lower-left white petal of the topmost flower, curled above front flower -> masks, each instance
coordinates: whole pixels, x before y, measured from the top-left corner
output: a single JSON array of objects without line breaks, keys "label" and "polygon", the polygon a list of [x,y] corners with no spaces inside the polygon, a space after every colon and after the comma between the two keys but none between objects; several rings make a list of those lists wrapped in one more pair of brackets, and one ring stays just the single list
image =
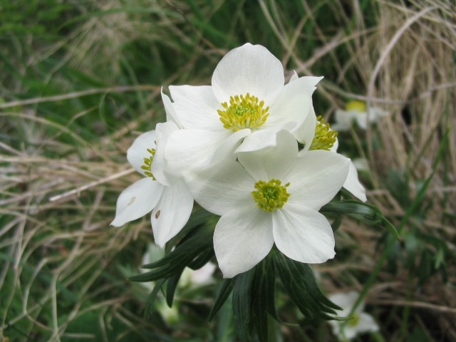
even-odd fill
[{"label": "lower-left white petal of the topmost flower, curled above front flower", "polygon": [[192,169],[207,165],[230,135],[232,133],[228,130],[176,130],[170,135],[165,146],[167,171],[177,177],[186,177]]}]

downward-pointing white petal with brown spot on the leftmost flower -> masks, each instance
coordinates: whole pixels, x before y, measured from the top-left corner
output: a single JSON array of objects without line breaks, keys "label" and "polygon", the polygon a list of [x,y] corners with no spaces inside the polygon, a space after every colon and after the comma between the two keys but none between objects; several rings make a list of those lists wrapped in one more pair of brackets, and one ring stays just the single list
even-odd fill
[{"label": "downward-pointing white petal with brown spot on the leftmost flower", "polygon": [[183,180],[165,187],[162,198],[152,210],[150,218],[155,243],[160,247],[180,232],[192,214],[193,197]]}]

